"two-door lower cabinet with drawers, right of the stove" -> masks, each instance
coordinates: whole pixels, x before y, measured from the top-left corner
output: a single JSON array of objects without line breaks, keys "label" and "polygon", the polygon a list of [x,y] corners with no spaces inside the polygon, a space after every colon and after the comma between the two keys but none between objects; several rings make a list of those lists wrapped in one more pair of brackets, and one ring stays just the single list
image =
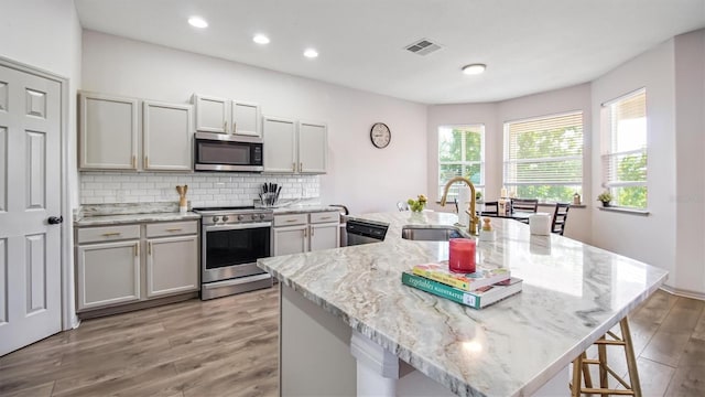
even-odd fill
[{"label": "two-door lower cabinet with drawers, right of the stove", "polygon": [[339,212],[274,215],[274,256],[340,246]]}]

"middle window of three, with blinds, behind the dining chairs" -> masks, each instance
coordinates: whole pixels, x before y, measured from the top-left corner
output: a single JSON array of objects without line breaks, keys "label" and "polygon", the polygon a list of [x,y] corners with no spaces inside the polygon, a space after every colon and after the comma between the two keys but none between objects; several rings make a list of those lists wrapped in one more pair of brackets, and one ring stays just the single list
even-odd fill
[{"label": "middle window of three, with blinds, behind the dining chairs", "polygon": [[583,194],[583,112],[506,122],[505,186],[543,202]]}]

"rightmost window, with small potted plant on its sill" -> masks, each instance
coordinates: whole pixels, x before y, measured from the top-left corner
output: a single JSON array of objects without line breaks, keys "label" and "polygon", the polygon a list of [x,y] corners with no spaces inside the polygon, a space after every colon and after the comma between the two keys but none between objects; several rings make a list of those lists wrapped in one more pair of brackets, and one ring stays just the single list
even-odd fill
[{"label": "rightmost window, with small potted plant on its sill", "polygon": [[647,90],[603,105],[603,187],[611,205],[647,207]]}]

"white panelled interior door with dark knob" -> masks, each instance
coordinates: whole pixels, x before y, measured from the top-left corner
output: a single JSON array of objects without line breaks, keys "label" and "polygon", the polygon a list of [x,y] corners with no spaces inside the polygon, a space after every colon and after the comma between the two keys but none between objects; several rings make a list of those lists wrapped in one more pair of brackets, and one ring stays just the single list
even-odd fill
[{"label": "white panelled interior door with dark knob", "polygon": [[0,355],[61,331],[59,153],[61,84],[0,65]]}]

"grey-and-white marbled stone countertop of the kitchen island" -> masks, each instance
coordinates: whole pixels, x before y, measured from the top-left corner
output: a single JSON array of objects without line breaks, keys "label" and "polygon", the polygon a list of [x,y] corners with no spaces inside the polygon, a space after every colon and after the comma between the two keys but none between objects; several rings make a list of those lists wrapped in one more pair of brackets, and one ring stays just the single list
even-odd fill
[{"label": "grey-and-white marbled stone countertop of the kitchen island", "polygon": [[402,270],[448,257],[447,243],[402,239],[402,226],[453,225],[455,214],[354,217],[389,224],[384,242],[258,264],[460,396],[531,395],[666,278],[640,261],[492,219],[497,240],[478,243],[479,261],[509,268],[523,290],[474,310],[401,283]]}]

